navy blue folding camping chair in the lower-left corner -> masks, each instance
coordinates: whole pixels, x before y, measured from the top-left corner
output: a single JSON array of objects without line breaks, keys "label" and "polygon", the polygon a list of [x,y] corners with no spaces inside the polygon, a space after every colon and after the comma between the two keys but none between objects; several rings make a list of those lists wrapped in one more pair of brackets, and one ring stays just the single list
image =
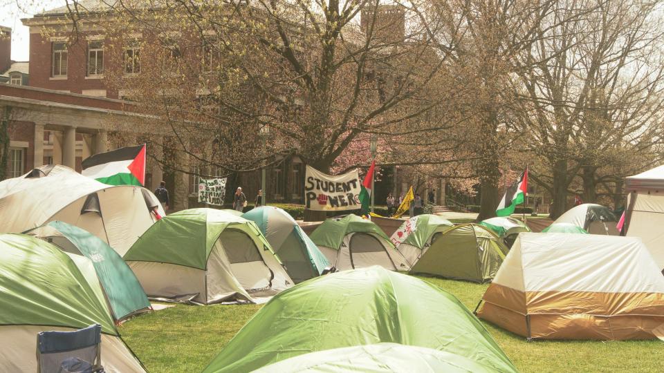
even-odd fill
[{"label": "navy blue folding camping chair in the lower-left corner", "polygon": [[104,372],[102,326],[90,325],[74,332],[37,334],[37,372]]}]

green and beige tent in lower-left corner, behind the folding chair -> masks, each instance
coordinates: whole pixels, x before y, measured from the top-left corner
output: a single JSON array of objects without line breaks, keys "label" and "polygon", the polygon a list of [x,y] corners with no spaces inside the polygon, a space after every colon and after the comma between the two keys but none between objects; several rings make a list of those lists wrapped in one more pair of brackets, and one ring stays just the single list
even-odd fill
[{"label": "green and beige tent in lower-left corner, behind the folding chair", "polygon": [[0,235],[0,367],[37,372],[37,333],[102,326],[107,372],[143,372],[113,323],[93,262],[33,236]]}]

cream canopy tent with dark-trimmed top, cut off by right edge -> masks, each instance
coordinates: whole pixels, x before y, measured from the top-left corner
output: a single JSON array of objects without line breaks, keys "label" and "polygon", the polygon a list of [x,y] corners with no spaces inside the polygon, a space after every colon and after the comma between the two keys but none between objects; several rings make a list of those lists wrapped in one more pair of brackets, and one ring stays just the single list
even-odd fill
[{"label": "cream canopy tent with dark-trimmed top, cut off by right edge", "polygon": [[639,237],[664,269],[664,166],[625,178],[625,236]]}]

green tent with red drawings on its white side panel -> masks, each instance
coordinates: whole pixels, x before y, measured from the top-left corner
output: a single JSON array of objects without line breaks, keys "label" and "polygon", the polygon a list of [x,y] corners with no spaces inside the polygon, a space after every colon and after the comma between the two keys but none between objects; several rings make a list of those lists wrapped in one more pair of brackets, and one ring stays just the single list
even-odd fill
[{"label": "green tent with red drawings on its white side panel", "polygon": [[417,261],[422,251],[431,245],[435,233],[444,232],[454,227],[450,220],[432,214],[414,216],[405,220],[401,226],[392,233],[390,240],[396,249],[406,258],[409,267]]}]

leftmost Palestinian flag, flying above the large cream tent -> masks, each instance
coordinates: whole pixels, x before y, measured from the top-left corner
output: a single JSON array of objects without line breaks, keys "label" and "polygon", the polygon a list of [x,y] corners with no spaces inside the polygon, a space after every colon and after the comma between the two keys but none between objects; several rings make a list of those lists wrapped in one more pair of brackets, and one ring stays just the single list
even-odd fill
[{"label": "leftmost Palestinian flag, flying above the large cream tent", "polygon": [[145,184],[145,144],[95,154],[82,162],[82,174],[109,185]]}]

